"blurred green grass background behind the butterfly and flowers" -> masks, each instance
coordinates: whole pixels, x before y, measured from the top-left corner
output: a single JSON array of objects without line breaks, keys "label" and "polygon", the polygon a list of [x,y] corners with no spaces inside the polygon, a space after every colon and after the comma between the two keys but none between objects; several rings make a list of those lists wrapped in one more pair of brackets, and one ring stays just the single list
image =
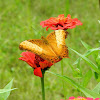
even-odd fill
[{"label": "blurred green grass background behind the butterfly and flowers", "polygon": [[[100,40],[100,9],[98,0],[70,0],[69,12],[72,18],[78,18],[83,25],[68,29],[69,36],[66,45],[80,53],[85,49],[80,39],[92,47],[99,47]],[[40,22],[50,17],[65,14],[66,0],[0,0],[0,88],[3,88],[12,78],[13,87],[8,100],[41,100],[40,78],[33,75],[33,70],[25,62],[18,60],[22,51],[20,42],[28,39],[47,36],[52,30],[46,31]],[[69,66],[77,59],[77,55],[69,51],[69,59],[64,59],[64,75],[75,80]],[[73,66],[75,67],[75,66]],[[84,72],[88,65],[81,64]],[[87,69],[86,69],[87,68]],[[60,62],[50,68],[50,71],[61,73]],[[81,79],[79,79],[81,81]],[[91,80],[88,88],[93,88],[96,82]],[[66,96],[79,96],[69,84],[65,83]],[[63,99],[62,81],[50,73],[45,75],[46,100]]]}]

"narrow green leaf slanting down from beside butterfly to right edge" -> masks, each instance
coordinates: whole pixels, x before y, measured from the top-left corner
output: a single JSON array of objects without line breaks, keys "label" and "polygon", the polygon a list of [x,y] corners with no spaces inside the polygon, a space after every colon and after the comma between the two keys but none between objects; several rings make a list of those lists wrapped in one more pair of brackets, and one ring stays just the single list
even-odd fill
[{"label": "narrow green leaf slanting down from beside butterfly to right edge", "polygon": [[84,55],[78,53],[77,51],[75,51],[73,49],[71,49],[71,50],[74,51],[77,55],[79,55],[93,70],[95,70],[97,73],[100,73],[100,71],[98,70],[98,66],[96,66],[91,60],[89,60]]}]

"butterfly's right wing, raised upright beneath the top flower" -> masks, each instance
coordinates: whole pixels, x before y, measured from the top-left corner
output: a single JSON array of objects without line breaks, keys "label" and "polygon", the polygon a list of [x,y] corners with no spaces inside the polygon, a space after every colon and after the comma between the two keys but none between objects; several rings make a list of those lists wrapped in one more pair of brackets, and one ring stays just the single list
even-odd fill
[{"label": "butterfly's right wing, raised upright beneath the top flower", "polygon": [[56,30],[46,37],[48,43],[51,45],[54,52],[59,56],[59,58],[68,58],[68,48],[65,44],[67,34],[67,31]]}]

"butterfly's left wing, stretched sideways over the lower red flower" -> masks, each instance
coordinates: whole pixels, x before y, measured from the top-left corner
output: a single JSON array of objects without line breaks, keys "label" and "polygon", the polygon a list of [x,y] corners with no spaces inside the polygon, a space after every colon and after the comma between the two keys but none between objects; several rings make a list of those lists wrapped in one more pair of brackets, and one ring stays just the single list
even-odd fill
[{"label": "butterfly's left wing, stretched sideways over the lower red flower", "polygon": [[40,39],[31,39],[26,40],[20,43],[19,48],[21,50],[31,51],[41,58],[48,60],[52,63],[55,63],[54,59],[59,59],[55,52],[50,48],[49,44],[44,40]]}]

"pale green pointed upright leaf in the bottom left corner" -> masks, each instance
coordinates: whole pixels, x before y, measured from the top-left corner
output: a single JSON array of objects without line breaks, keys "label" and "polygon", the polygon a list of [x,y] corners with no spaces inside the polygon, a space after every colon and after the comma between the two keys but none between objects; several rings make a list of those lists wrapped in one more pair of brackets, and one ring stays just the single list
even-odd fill
[{"label": "pale green pointed upright leaf in the bottom left corner", "polygon": [[[13,80],[11,80],[11,81],[4,87],[4,89],[11,90],[12,83],[13,83]],[[8,98],[9,95],[10,95],[10,91],[1,93],[1,94],[0,94],[0,100],[7,100],[7,98]]]}]

